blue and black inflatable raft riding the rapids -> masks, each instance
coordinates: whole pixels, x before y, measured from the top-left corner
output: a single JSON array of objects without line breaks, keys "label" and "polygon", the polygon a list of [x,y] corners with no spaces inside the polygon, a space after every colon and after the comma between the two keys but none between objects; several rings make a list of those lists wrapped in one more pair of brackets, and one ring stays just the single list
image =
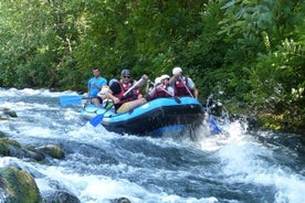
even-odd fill
[{"label": "blue and black inflatable raft riding the rapids", "polygon": [[101,124],[108,131],[138,136],[194,129],[204,118],[202,105],[192,97],[156,98],[123,114],[116,114],[114,109],[105,111],[103,107],[88,104],[82,115],[93,118],[105,114]]}]

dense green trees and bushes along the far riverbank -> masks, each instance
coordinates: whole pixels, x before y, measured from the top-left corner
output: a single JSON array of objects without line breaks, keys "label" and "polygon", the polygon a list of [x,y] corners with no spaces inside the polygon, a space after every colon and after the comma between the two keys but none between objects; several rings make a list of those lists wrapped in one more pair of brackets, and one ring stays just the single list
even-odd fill
[{"label": "dense green trees and bushes along the far riverbank", "polygon": [[302,0],[1,0],[0,86],[85,90],[92,67],[181,66],[232,113],[305,129]]}]

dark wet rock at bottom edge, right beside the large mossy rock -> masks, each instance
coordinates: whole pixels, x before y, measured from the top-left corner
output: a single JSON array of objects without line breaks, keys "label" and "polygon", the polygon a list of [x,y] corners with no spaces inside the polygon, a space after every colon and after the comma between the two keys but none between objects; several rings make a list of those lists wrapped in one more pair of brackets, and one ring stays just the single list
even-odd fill
[{"label": "dark wet rock at bottom edge, right beside the large mossy rock", "polygon": [[55,191],[54,193],[49,193],[43,196],[43,203],[80,203],[81,201],[64,191]]}]

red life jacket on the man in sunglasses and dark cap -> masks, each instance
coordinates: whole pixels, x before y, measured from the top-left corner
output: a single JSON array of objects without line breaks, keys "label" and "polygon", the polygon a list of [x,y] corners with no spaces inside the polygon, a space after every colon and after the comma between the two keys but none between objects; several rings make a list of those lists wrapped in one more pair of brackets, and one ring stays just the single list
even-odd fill
[{"label": "red life jacket on the man in sunglasses and dark cap", "polygon": [[118,104],[124,104],[124,103],[127,103],[127,101],[130,101],[130,100],[135,100],[139,97],[140,95],[140,92],[139,89],[133,89],[130,90],[127,95],[124,96],[124,93],[126,93],[132,86],[133,84],[132,83],[122,83],[122,82],[117,82],[120,86],[120,93],[114,95],[115,97],[117,98],[120,98],[120,101]]}]

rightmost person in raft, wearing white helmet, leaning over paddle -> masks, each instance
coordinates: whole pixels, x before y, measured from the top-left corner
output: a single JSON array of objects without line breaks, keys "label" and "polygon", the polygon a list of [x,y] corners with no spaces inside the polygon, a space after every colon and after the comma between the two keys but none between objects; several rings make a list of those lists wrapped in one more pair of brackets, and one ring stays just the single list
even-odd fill
[{"label": "rightmost person in raft, wearing white helmet, leaning over paddle", "polygon": [[190,77],[182,75],[181,67],[172,68],[172,77],[169,79],[169,85],[173,85],[175,96],[194,97],[198,99],[198,89]]}]

